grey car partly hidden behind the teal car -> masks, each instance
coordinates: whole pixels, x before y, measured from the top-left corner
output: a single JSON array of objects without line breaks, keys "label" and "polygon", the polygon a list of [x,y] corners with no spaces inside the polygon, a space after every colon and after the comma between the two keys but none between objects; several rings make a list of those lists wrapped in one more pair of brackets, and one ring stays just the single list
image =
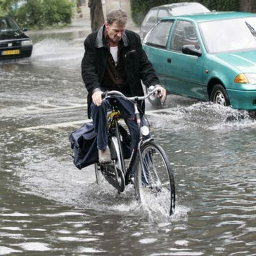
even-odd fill
[{"label": "grey car partly hidden behind the teal car", "polygon": [[143,39],[150,28],[164,17],[186,15],[191,13],[211,12],[203,4],[196,2],[182,2],[159,5],[151,8],[140,26],[140,36]]}]

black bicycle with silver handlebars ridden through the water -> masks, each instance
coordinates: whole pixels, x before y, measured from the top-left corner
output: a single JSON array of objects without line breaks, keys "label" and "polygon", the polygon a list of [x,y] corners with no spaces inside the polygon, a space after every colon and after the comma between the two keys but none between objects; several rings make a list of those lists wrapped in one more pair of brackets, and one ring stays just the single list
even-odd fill
[{"label": "black bicycle with silver handlebars ridden through the water", "polygon": [[[95,164],[96,181],[99,184],[100,171],[119,193],[124,191],[126,185],[133,184],[139,202],[143,205],[152,202],[160,204],[172,215],[175,208],[175,186],[172,168],[164,149],[153,138],[147,138],[149,128],[141,125],[137,106],[139,100],[145,100],[155,92],[159,93],[154,86],[151,86],[148,91],[147,95],[141,97],[126,97],[118,91],[105,93],[104,99],[114,100],[116,97],[122,97],[132,102],[134,117],[140,132],[136,147],[132,150],[129,163],[126,165],[118,122],[122,116],[115,104],[112,104],[111,113],[108,115],[108,139],[112,162],[110,164]],[[132,173],[133,168],[135,173]]]}]

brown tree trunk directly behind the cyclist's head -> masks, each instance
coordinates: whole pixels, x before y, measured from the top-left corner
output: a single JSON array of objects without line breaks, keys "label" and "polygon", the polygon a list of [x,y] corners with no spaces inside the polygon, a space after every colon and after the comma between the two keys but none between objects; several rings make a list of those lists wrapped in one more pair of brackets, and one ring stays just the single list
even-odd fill
[{"label": "brown tree trunk directly behind the cyclist's head", "polygon": [[89,0],[92,32],[97,31],[104,24],[104,15],[101,0]]}]

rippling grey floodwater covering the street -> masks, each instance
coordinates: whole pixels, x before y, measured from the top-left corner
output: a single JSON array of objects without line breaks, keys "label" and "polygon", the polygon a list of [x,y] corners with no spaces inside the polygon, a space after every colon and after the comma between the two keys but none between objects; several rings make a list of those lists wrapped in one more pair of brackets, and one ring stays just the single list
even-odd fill
[{"label": "rippling grey floodwater covering the street", "polygon": [[87,119],[86,33],[31,36],[31,58],[0,62],[0,255],[256,255],[255,121],[180,96],[147,102],[177,193],[175,214],[156,214],[69,156]]}]

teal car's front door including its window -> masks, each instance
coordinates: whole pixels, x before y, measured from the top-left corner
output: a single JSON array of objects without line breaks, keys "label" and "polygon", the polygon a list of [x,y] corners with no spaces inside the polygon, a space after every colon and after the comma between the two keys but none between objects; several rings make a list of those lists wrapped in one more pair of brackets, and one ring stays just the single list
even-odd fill
[{"label": "teal car's front door including its window", "polygon": [[169,50],[165,56],[166,89],[170,92],[205,100],[202,72],[205,53],[200,57],[182,53],[184,45],[200,49],[200,42],[193,22],[177,20],[172,29]]}]

